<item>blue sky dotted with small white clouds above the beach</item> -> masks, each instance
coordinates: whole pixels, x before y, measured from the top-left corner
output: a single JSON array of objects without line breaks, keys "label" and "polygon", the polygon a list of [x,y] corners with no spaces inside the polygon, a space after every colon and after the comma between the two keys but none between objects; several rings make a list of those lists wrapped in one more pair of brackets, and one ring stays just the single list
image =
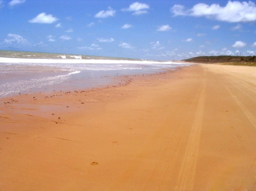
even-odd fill
[{"label": "blue sky dotted with small white clouds above the beach", "polygon": [[0,0],[0,49],[153,60],[256,54],[256,5],[219,0]]}]

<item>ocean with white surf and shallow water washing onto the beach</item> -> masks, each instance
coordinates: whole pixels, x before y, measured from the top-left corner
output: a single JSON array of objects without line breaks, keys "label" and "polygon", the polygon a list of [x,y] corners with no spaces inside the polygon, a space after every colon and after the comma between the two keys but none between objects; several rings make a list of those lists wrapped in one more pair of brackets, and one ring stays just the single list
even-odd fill
[{"label": "ocean with white surf and shallow water washing onto the beach", "polygon": [[113,77],[162,72],[187,63],[0,50],[0,98],[17,93],[86,89]]}]

